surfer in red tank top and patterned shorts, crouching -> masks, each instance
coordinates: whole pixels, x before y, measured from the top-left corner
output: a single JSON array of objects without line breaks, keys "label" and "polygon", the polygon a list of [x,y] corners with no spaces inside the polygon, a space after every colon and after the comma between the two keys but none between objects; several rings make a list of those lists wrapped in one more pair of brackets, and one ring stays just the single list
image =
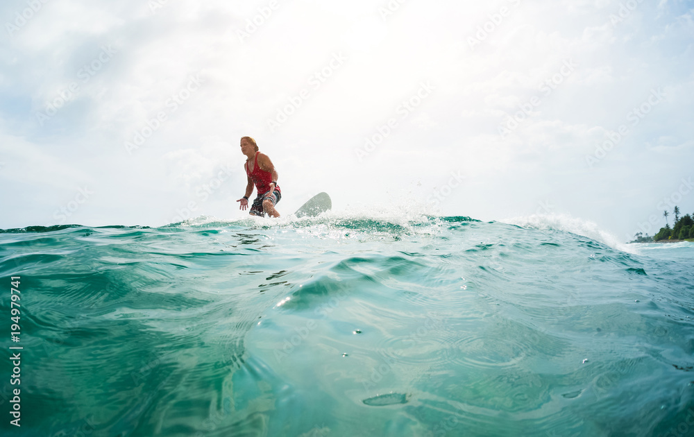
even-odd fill
[{"label": "surfer in red tank top and patterned shorts, crouching", "polygon": [[264,216],[268,214],[271,217],[279,217],[280,213],[275,209],[275,205],[282,198],[282,192],[277,185],[277,170],[273,166],[270,158],[264,153],[258,151],[258,146],[255,139],[251,137],[243,137],[241,139],[241,153],[246,155],[246,175],[248,176],[248,185],[246,185],[246,194],[243,198],[237,200],[241,202],[239,209],[244,211],[248,208],[248,198],[253,194],[253,185],[257,189],[258,195],[253,200],[250,214],[252,216]]}]

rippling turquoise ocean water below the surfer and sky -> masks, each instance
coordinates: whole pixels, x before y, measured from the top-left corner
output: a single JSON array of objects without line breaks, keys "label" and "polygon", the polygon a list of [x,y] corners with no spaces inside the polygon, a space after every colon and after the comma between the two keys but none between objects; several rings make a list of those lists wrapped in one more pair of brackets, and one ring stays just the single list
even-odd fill
[{"label": "rippling turquoise ocean water below the surfer and sky", "polygon": [[613,246],[466,217],[6,230],[0,434],[693,436],[694,244]]}]

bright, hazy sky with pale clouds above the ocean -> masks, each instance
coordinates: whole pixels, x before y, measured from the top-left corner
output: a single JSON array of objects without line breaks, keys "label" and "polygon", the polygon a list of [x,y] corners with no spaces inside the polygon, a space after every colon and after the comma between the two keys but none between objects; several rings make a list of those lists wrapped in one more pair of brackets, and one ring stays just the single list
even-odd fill
[{"label": "bright, hazy sky with pale clouds above the ocean", "polygon": [[[0,228],[282,214],[694,213],[694,1],[7,0]],[[255,194],[253,194],[255,196]]]}]

